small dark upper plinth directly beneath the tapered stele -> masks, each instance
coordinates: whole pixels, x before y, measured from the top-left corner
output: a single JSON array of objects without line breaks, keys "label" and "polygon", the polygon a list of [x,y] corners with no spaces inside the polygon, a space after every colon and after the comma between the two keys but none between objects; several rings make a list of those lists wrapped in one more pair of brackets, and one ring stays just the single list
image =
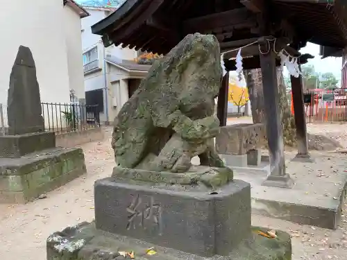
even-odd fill
[{"label": "small dark upper plinth directly beneath the tapered stele", "polygon": [[0,137],[0,158],[19,158],[29,153],[56,147],[53,132],[37,132]]}]

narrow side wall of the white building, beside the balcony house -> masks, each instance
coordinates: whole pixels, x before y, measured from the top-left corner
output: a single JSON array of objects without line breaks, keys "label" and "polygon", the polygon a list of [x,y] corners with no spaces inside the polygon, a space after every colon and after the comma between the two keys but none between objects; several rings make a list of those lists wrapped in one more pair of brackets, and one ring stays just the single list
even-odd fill
[{"label": "narrow side wall of the white building, beside the balcony house", "polygon": [[[67,69],[69,71],[69,86],[74,89],[78,99],[85,99],[81,17],[69,6],[65,6],[65,40],[67,46]],[[83,19],[82,19],[83,21]]]}]

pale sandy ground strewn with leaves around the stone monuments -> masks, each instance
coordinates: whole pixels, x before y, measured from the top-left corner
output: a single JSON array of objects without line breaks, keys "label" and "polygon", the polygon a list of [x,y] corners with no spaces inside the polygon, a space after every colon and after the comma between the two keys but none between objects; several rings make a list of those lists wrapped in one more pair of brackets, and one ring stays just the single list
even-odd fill
[{"label": "pale sandy ground strewn with leaves around the stone monuments", "polygon": [[[347,144],[346,125],[309,125],[310,132],[322,130]],[[339,130],[338,130],[339,129]],[[94,181],[109,176],[114,166],[110,129],[106,138],[82,146],[87,174],[27,205],[0,205],[0,259],[44,260],[46,237],[68,225],[94,218]],[[347,207],[344,212],[347,216]],[[282,229],[292,234],[294,260],[346,259],[347,218],[336,231],[298,225],[284,220],[252,216],[253,225]]]}]

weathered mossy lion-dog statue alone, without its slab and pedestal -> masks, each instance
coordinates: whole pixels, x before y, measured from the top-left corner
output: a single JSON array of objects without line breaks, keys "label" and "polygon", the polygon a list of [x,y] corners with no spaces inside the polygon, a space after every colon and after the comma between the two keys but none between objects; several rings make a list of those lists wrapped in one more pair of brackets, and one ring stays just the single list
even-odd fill
[{"label": "weathered mossy lion-dog statue alone, without its slab and pedestal", "polygon": [[183,173],[198,155],[201,165],[222,167],[213,143],[219,133],[214,98],[221,73],[213,35],[187,35],[156,60],[115,118],[112,148],[117,165]]}]

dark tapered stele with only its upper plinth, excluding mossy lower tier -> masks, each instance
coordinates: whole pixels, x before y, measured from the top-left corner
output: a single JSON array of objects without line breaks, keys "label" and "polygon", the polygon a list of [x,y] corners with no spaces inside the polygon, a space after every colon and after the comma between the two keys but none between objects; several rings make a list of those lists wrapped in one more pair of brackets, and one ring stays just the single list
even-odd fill
[{"label": "dark tapered stele with only its upper plinth, excluding mossy lower tier", "polygon": [[7,112],[8,136],[0,137],[0,158],[19,158],[56,147],[54,134],[44,132],[33,54],[22,45],[10,74]]}]

